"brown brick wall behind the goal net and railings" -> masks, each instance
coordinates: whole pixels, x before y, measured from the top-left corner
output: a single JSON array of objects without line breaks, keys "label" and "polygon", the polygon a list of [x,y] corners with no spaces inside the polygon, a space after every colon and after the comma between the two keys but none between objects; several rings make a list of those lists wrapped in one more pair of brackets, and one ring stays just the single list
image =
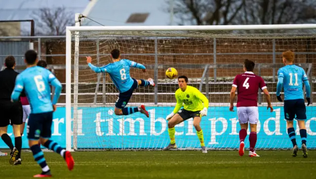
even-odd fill
[{"label": "brown brick wall behind the goal net and railings", "polygon": [[[108,40],[109,41],[109,40]],[[113,40],[112,40],[113,41]],[[290,38],[290,39],[275,39],[276,42],[276,63],[282,63],[281,55],[287,49],[294,50],[295,63],[313,63],[316,67],[316,54],[308,54],[316,52],[316,38]],[[63,40],[46,41],[44,43],[47,55],[66,54],[66,45]],[[155,64],[155,42],[150,39],[131,38],[117,39],[116,42],[107,42],[100,40],[100,64],[111,62],[108,55],[111,51],[110,47],[119,46],[122,54],[142,54],[142,55],[122,55],[122,58],[127,58],[145,65]],[[115,44],[115,45],[114,45]],[[42,44],[43,45],[43,44]],[[36,46],[36,45],[35,45]],[[36,47],[35,47],[36,48]],[[74,48],[73,48],[74,49]],[[158,40],[158,64],[212,64],[214,62],[213,39],[200,38],[180,38],[160,39]],[[82,41],[79,46],[79,65],[85,65],[85,55],[96,54],[96,40]],[[209,55],[194,55],[194,54],[209,54]],[[226,53],[226,54],[224,54]],[[239,53],[227,54],[227,53]],[[262,54],[253,54],[262,53]],[[268,54],[270,53],[270,54]],[[216,39],[216,63],[242,63],[248,58],[254,60],[255,63],[273,63],[273,39]],[[300,53],[300,54],[298,54]],[[306,54],[304,54],[306,53]],[[148,55],[146,55],[148,54]],[[168,55],[172,54],[172,55]],[[187,54],[187,55],[183,55]],[[93,57],[93,56],[92,56]],[[96,56],[94,56],[96,58]],[[46,57],[48,64],[66,64],[65,57]],[[96,60],[93,61],[96,63]],[[203,71],[201,69],[178,69],[181,74],[190,74],[192,78],[201,77]],[[158,79],[164,79],[164,70],[158,70]],[[242,69],[217,69],[217,77],[234,76],[236,73],[242,72]],[[256,71],[255,71],[256,72]],[[262,75],[272,75],[272,69],[262,69]],[[276,69],[277,72],[277,69]],[[89,75],[93,72],[79,72],[79,75]],[[56,70],[56,76],[61,82],[65,82],[65,70]],[[131,69],[131,75],[135,78],[144,77],[137,69]],[[146,74],[149,77],[154,75],[153,70],[149,70]],[[313,72],[316,76],[316,71]],[[209,77],[214,77],[213,69],[209,70]],[[108,78],[107,80],[110,81]]]}]

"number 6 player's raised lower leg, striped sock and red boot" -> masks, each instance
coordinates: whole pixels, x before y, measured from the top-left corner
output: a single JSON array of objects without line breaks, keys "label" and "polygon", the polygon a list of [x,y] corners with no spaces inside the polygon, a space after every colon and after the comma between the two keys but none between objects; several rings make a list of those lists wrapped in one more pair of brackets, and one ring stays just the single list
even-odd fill
[{"label": "number 6 player's raised lower leg, striped sock and red boot", "polygon": [[43,145],[48,148],[53,150],[54,152],[60,154],[66,161],[68,169],[71,171],[74,169],[75,161],[70,153],[70,151],[66,151],[63,149],[58,143],[52,141],[52,140],[47,140]]}]

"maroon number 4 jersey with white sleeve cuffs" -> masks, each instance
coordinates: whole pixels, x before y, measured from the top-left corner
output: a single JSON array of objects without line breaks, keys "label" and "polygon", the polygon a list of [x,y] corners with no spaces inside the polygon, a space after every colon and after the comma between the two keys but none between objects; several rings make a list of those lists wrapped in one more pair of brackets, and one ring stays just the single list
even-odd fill
[{"label": "maroon number 4 jersey with white sleeve cuffs", "polygon": [[237,88],[237,107],[256,107],[259,88],[267,88],[262,77],[253,72],[238,74],[233,82]]}]

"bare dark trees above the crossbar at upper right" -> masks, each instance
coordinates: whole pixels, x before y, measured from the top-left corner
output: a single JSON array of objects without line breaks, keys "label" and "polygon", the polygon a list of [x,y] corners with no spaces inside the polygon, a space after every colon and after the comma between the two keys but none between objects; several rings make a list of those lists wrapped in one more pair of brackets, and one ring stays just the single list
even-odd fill
[{"label": "bare dark trees above the crossbar at upper right", "polygon": [[316,22],[316,0],[174,0],[173,11],[179,25]]}]

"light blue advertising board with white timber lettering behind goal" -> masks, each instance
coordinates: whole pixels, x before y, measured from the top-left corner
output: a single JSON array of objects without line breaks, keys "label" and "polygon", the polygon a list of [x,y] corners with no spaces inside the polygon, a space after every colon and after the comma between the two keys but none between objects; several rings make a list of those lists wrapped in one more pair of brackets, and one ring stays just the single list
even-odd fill
[{"label": "light blue advertising board with white timber lettering behind goal", "polygon": [[[116,116],[113,107],[79,107],[79,126],[77,130],[79,148],[160,149],[169,143],[167,121],[165,116],[173,107],[148,107],[150,118],[135,114],[123,118]],[[312,107],[307,107],[308,147],[316,148],[316,117]],[[282,107],[275,107],[270,113],[266,107],[259,107],[257,148],[276,149],[291,148],[286,132],[286,122]],[[296,122],[294,122],[297,125]],[[313,127],[314,126],[314,127]],[[208,115],[202,117],[201,127],[204,141],[208,148],[233,149],[238,147],[239,124],[237,111],[230,112],[228,107],[209,107]],[[296,127],[296,129],[299,129]],[[176,141],[179,148],[198,148],[199,142],[189,119],[176,126]],[[296,131],[300,141],[299,131]],[[8,135],[14,140],[12,128]],[[53,115],[52,139],[66,146],[65,107],[58,107]],[[26,135],[22,136],[23,148],[28,148]],[[246,139],[247,140],[247,139]],[[299,143],[299,142],[298,142]],[[249,143],[246,142],[246,147]],[[0,141],[0,148],[7,146]]]}]

